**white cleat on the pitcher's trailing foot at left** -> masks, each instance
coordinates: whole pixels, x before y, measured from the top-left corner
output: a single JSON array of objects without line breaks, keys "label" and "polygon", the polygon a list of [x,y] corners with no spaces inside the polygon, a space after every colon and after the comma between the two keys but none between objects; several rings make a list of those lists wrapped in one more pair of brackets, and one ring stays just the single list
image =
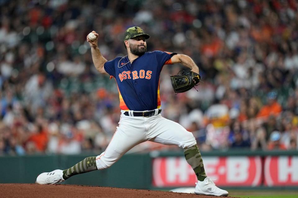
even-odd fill
[{"label": "white cleat on the pitcher's trailing foot at left", "polygon": [[63,170],[53,170],[49,173],[42,173],[38,175],[35,183],[37,184],[55,184],[63,182]]}]

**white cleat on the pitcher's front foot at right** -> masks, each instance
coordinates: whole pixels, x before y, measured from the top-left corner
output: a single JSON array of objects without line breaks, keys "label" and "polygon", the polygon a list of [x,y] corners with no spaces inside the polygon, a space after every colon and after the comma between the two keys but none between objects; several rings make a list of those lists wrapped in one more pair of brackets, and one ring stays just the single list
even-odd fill
[{"label": "white cleat on the pitcher's front foot at right", "polygon": [[228,196],[228,191],[222,190],[215,186],[210,177],[206,177],[204,181],[196,183],[195,193],[197,195],[213,195],[213,196]]}]

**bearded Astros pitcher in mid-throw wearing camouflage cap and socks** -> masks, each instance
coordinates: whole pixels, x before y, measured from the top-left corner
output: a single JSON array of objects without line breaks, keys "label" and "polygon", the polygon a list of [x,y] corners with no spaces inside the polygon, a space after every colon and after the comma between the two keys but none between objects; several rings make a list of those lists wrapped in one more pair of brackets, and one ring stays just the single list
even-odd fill
[{"label": "bearded Astros pitcher in mid-throw wearing camouflage cap and socks", "polygon": [[191,71],[184,75],[171,76],[176,93],[189,90],[201,77],[194,61],[183,54],[163,51],[146,52],[145,34],[140,27],[128,28],[124,33],[127,55],[107,61],[97,46],[96,39],[87,41],[96,69],[116,80],[120,98],[120,121],[106,150],[96,157],[87,157],[66,170],[54,170],[38,175],[36,183],[60,183],[73,175],[101,170],[112,166],[127,151],[144,141],[177,145],[184,149],[186,161],[192,166],[198,182],[195,193],[201,195],[228,196],[228,192],[215,186],[206,176],[201,153],[196,140],[180,124],[163,118],[160,114],[160,71],[164,65],[181,63]]}]

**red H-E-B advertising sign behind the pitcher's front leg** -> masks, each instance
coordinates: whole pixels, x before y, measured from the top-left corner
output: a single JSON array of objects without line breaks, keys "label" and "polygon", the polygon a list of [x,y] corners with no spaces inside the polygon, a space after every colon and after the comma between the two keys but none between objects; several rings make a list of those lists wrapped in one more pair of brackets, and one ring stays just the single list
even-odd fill
[{"label": "red H-E-B advertising sign behind the pitcher's front leg", "polygon": [[[261,183],[260,157],[204,157],[206,174],[219,186],[257,186]],[[197,181],[184,157],[153,160],[153,186],[194,186]]]}]

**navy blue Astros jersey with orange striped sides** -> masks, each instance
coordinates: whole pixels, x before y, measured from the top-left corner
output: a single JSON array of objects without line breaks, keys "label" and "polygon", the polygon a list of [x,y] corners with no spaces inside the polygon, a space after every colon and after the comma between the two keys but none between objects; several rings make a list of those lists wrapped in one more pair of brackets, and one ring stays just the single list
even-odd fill
[{"label": "navy blue Astros jersey with orange striped sides", "polygon": [[128,56],[106,62],[105,71],[118,85],[120,109],[145,111],[160,108],[160,71],[164,65],[172,64],[171,58],[175,54],[153,51],[136,58],[132,64]]}]

